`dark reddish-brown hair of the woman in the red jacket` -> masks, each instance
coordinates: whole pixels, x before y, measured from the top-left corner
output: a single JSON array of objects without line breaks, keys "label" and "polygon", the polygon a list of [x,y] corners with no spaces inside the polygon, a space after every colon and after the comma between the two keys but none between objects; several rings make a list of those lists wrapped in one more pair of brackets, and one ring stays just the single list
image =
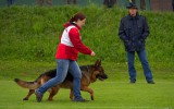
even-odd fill
[{"label": "dark reddish-brown hair of the woman in the red jacket", "polygon": [[80,13],[80,12],[77,12],[76,14],[74,14],[71,19],[70,19],[70,23],[73,23],[73,22],[76,22],[77,20],[80,20],[83,21],[84,19],[86,19],[86,16]]}]

